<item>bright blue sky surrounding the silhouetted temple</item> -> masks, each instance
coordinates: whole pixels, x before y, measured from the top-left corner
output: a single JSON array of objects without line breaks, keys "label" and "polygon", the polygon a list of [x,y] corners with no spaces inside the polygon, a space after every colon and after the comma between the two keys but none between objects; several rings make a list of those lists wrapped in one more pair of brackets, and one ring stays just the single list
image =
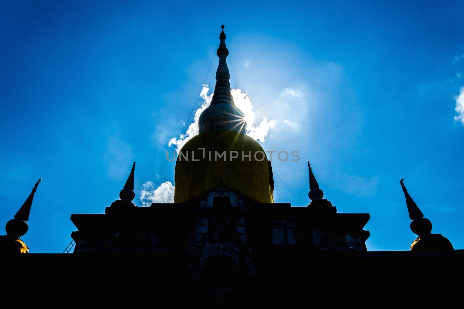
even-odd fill
[{"label": "bright blue sky surrounding the silhouetted temple", "polygon": [[[263,148],[300,152],[273,167],[302,204],[310,160],[339,212],[371,215],[369,250],[408,250],[405,178],[434,231],[462,249],[463,12],[462,1],[4,5],[1,224],[43,177],[22,239],[31,253],[62,252],[71,214],[103,213],[133,161],[138,204],[175,147],[224,24],[231,86],[255,113],[248,125],[265,117]],[[168,162],[153,188],[173,172]],[[300,206],[275,180],[276,200]],[[148,196],[162,200],[162,189]]]}]

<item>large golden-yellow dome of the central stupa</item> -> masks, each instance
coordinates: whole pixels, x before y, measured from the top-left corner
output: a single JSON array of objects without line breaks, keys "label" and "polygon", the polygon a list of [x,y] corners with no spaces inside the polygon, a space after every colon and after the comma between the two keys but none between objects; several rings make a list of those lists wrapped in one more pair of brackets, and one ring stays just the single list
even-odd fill
[{"label": "large golden-yellow dome of the central stupa", "polygon": [[274,203],[263,148],[231,130],[203,132],[182,147],[175,165],[174,203],[200,196],[221,179],[257,202]]}]

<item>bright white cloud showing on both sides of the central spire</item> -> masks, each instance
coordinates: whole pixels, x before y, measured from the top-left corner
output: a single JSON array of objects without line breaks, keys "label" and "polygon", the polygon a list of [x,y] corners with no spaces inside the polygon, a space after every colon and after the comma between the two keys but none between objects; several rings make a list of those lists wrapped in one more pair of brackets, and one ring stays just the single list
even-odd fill
[{"label": "bright white cloud showing on both sides of the central spire", "polygon": [[[193,117],[193,123],[190,124],[187,128],[187,132],[180,135],[179,137],[172,137],[169,140],[168,146],[176,146],[176,152],[180,152],[180,148],[185,145],[193,136],[198,134],[198,120],[200,119],[201,113],[209,106],[211,100],[213,99],[213,93],[208,95],[208,85],[203,85],[201,89],[200,97],[203,99],[200,107],[195,111]],[[293,90],[292,90],[293,91]],[[272,129],[277,121],[270,120],[268,121],[266,117],[263,117],[263,120],[259,124],[253,125],[255,123],[255,112],[253,111],[253,105],[251,103],[250,97],[247,93],[242,93],[240,89],[232,89],[232,98],[235,102],[235,105],[243,111],[245,114],[245,120],[247,123],[247,135],[255,140],[264,142],[264,137],[268,134],[269,130]],[[301,94],[300,92],[296,93]]]}]

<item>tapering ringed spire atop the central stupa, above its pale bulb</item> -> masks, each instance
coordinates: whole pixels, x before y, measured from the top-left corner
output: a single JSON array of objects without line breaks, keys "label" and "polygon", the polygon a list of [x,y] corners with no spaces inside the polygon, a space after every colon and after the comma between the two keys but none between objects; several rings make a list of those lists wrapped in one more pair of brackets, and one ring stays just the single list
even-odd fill
[{"label": "tapering ringed spire atop the central stupa, above its pale bulb", "polygon": [[226,34],[224,33],[224,25],[221,26],[222,31],[219,35],[219,48],[216,55],[219,57],[219,65],[216,70],[216,87],[214,87],[213,99],[211,105],[217,103],[228,103],[235,105],[232,99],[231,86],[229,83],[230,73],[227,68],[226,58],[229,55],[229,49],[226,47]]}]

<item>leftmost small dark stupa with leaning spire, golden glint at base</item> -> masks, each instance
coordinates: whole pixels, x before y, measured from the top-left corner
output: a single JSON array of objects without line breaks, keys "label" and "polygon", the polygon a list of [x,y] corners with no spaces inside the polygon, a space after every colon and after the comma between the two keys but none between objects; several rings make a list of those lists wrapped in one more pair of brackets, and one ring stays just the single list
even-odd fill
[{"label": "leftmost small dark stupa with leaning spire, golden glint at base", "polygon": [[26,221],[29,220],[32,200],[34,199],[34,194],[37,191],[37,186],[41,180],[42,178],[35,183],[31,194],[29,194],[26,198],[26,202],[24,202],[18,210],[14,219],[6,223],[6,235],[0,236],[0,254],[29,253],[29,248],[19,239],[19,237],[26,234],[29,229],[29,225]]}]

